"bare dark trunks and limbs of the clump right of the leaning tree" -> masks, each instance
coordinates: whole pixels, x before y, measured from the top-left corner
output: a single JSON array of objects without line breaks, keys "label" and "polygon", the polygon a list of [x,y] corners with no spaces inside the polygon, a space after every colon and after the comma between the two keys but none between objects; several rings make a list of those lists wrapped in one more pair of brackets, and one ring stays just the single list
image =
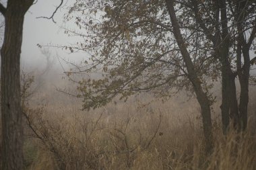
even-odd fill
[{"label": "bare dark trunks and limbs of the clump right of the leaning tree", "polygon": [[[199,3],[197,0],[191,0],[191,7],[195,19],[201,30],[203,30],[206,38],[211,40],[214,44],[215,55],[218,56],[221,62],[221,73],[222,73],[222,130],[226,134],[228,127],[230,126],[230,118],[233,122],[233,126],[236,130],[245,130],[247,127],[247,105],[249,101],[249,71],[250,71],[250,57],[249,48],[255,39],[256,34],[256,19],[254,21],[254,27],[252,28],[251,35],[249,36],[248,42],[245,41],[243,23],[245,23],[245,6],[249,1],[235,1],[236,9],[236,23],[238,30],[237,40],[237,73],[233,73],[229,58],[228,50],[230,46],[230,32],[228,32],[228,17],[226,0],[212,1],[214,5],[214,21],[216,22],[216,31],[214,34],[205,25],[205,20],[199,15]],[[220,23],[221,18],[221,23]],[[221,25],[221,29],[219,26]],[[235,42],[231,42],[235,44]],[[242,51],[244,65],[242,67]],[[239,106],[236,97],[236,83],[235,77],[238,75],[239,82],[241,84],[241,94]]]}]

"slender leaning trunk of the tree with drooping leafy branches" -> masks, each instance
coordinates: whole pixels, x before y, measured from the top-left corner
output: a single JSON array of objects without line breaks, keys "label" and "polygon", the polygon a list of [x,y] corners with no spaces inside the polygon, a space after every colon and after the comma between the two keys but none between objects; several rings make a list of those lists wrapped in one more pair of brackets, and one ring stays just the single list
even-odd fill
[{"label": "slender leaning trunk of the tree with drooping leafy branches", "polygon": [[166,6],[173,27],[173,34],[181,50],[183,60],[185,61],[185,65],[187,67],[189,80],[193,84],[193,89],[197,96],[197,101],[199,102],[199,105],[201,107],[201,116],[203,118],[203,134],[205,137],[205,152],[209,154],[212,152],[212,148],[214,146],[210,100],[208,99],[207,94],[203,92],[203,89],[201,87],[201,81],[198,78],[197,72],[195,71],[195,67],[186,48],[185,41],[183,40],[183,36],[181,35],[181,29],[177,21],[177,16],[174,11],[173,3],[174,2],[172,0],[166,0]]}]

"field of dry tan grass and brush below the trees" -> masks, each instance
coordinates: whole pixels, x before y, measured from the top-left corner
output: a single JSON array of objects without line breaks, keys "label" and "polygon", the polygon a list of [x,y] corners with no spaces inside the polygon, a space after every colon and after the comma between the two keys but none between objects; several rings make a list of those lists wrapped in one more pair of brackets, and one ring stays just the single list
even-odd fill
[{"label": "field of dry tan grass and brush below the trees", "polygon": [[[245,134],[223,136],[219,103],[212,116],[214,152],[206,157],[199,105],[193,98],[180,95],[163,103],[141,95],[86,112],[79,110],[81,101],[62,102],[61,96],[55,100],[58,103],[34,103],[26,110],[26,169],[256,168],[253,117]],[[253,101],[251,114],[255,114]]]}]

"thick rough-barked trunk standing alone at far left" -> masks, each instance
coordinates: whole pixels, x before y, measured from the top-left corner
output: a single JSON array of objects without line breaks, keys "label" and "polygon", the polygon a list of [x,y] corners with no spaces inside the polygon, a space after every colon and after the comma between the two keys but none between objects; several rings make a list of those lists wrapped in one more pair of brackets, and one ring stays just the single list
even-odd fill
[{"label": "thick rough-barked trunk standing alone at far left", "polygon": [[1,48],[2,168],[23,168],[23,128],[20,106],[20,53],[24,15],[33,1],[7,2]]}]

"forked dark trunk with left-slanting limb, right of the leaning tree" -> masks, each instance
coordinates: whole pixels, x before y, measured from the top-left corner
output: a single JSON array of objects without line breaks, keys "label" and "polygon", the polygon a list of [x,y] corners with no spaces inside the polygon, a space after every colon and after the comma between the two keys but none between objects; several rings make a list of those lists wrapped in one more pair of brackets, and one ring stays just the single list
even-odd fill
[{"label": "forked dark trunk with left-slanting limb, right of the leaning tree", "polygon": [[[197,0],[191,0],[191,7],[193,9],[195,19],[199,27],[203,30],[206,38],[214,44],[214,55],[218,56],[221,63],[222,73],[222,132],[226,134],[230,126],[230,117],[234,126],[238,126],[238,106],[236,100],[236,85],[234,81],[234,74],[230,67],[228,60],[228,50],[230,38],[228,33],[228,19],[226,14],[226,1],[213,1],[214,5],[214,24],[215,32],[207,28],[201,15],[199,15],[199,3]],[[221,23],[219,22],[221,18]],[[222,29],[220,30],[219,26]]]}]

